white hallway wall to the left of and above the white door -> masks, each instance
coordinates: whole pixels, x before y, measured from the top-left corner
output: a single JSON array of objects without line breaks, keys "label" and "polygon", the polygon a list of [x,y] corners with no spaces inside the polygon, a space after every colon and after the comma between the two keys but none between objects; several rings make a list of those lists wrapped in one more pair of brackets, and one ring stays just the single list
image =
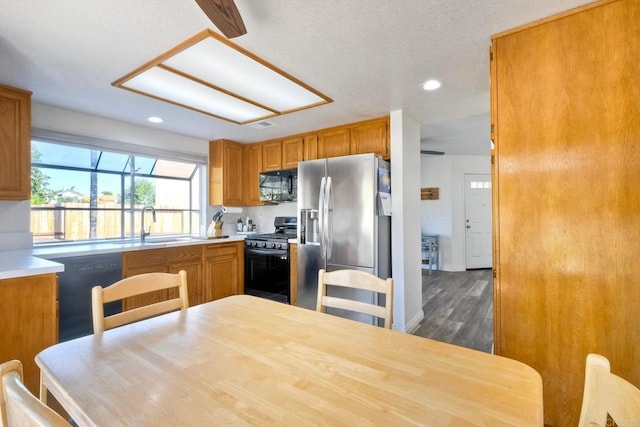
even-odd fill
[{"label": "white hallway wall to the left of and above the white door", "polygon": [[421,231],[437,234],[438,269],[464,271],[464,175],[491,174],[490,156],[422,156],[421,187],[438,187],[439,200],[420,201]]}]

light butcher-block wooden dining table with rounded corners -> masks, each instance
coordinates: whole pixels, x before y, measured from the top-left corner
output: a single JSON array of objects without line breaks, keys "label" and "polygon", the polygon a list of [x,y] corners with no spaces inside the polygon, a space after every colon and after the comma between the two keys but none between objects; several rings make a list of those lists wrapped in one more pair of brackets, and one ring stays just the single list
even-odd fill
[{"label": "light butcher-block wooden dining table with rounded corners", "polygon": [[40,352],[79,426],[542,426],[515,360],[248,295]]}]

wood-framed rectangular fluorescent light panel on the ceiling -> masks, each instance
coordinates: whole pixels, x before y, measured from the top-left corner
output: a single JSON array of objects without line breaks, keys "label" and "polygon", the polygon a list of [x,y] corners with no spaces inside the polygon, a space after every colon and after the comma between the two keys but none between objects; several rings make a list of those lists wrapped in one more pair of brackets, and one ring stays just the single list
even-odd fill
[{"label": "wood-framed rectangular fluorescent light panel on the ceiling", "polygon": [[237,124],[332,102],[211,30],[113,85]]}]

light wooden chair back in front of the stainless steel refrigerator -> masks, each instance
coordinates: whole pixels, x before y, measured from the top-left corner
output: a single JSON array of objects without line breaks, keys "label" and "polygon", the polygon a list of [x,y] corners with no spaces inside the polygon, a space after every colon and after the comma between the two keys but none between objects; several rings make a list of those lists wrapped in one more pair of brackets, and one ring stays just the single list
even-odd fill
[{"label": "light wooden chair back in front of the stainless steel refrigerator", "polygon": [[[385,295],[385,306],[368,304],[346,298],[327,296],[327,285],[363,289]],[[393,308],[393,279],[381,279],[358,270],[337,270],[318,273],[318,300],[316,310],[326,312],[327,307],[340,308],[384,319],[384,327],[391,329]]]}]

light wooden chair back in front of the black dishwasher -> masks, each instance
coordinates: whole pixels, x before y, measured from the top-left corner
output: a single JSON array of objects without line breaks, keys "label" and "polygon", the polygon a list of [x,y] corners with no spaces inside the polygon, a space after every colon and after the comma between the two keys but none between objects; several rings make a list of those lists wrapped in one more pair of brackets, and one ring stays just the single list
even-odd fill
[{"label": "light wooden chair back in front of the black dishwasher", "polygon": [[[170,288],[178,288],[179,296],[177,298],[137,307],[112,316],[104,316],[105,303]],[[96,334],[137,320],[186,309],[189,307],[187,273],[184,270],[180,270],[176,274],[145,273],[127,277],[106,288],[94,286],[91,290],[91,304],[93,332]]]}]

